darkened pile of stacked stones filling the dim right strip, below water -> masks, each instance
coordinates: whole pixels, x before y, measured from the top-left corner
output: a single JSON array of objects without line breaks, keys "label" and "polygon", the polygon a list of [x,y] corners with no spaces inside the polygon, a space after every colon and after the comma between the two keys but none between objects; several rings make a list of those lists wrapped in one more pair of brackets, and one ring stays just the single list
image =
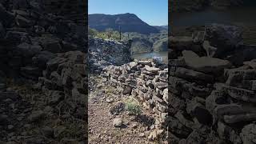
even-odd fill
[{"label": "darkened pile of stacked stones filling the dim right strip, below water", "polygon": [[[256,51],[236,26],[171,37],[171,143],[253,143]],[[250,51],[250,52],[249,52]]]}]

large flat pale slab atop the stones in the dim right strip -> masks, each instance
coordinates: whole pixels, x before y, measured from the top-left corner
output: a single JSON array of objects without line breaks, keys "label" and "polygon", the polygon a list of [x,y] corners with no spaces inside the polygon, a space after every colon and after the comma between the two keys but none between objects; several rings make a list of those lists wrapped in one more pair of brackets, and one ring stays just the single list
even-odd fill
[{"label": "large flat pale slab atop the stones in the dim right strip", "polygon": [[199,58],[197,54],[190,50],[184,50],[182,54],[185,58],[187,66],[193,70],[203,73],[218,74],[219,72],[231,66],[231,63],[226,60],[209,57]]}]

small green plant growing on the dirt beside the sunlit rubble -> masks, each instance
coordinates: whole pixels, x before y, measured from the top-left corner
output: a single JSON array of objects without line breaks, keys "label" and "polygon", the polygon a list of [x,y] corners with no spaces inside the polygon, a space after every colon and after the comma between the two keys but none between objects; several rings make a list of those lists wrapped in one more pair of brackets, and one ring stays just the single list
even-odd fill
[{"label": "small green plant growing on the dirt beside the sunlit rubble", "polygon": [[126,110],[131,115],[142,114],[141,106],[139,106],[138,102],[135,102],[133,99],[130,99],[126,102]]}]

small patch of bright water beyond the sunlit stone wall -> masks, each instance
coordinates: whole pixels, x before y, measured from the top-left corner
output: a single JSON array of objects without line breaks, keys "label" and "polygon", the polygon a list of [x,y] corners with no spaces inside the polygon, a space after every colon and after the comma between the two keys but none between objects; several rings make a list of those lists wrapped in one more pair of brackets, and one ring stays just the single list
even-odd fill
[{"label": "small patch of bright water beyond the sunlit stone wall", "polygon": [[149,58],[154,58],[154,57],[160,57],[164,61],[166,61],[166,59],[168,59],[168,52],[167,51],[162,51],[162,52],[132,54],[132,58],[138,59],[138,60],[144,60],[144,59],[149,59]]}]

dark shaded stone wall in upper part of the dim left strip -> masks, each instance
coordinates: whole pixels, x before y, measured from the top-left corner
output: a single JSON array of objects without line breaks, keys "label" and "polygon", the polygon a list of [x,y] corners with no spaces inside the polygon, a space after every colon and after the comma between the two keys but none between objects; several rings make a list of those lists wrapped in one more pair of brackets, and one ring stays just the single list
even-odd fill
[{"label": "dark shaded stone wall in upper part of the dim left strip", "polygon": [[86,51],[78,22],[50,14],[41,1],[2,2],[0,13],[0,66],[12,77],[37,80],[56,53]]}]

